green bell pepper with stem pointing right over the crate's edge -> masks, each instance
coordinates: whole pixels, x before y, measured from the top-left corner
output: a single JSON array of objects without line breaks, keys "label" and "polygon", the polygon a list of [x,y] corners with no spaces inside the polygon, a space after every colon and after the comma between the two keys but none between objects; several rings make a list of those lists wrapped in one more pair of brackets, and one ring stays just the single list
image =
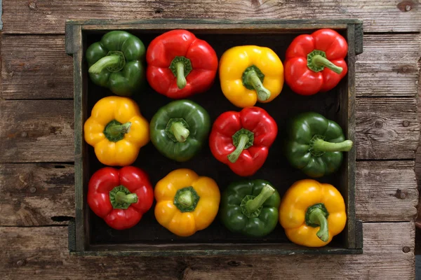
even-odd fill
[{"label": "green bell pepper with stem pointing right over the crate's edge", "polygon": [[342,152],[350,151],[353,145],[351,140],[345,140],[338,123],[314,112],[292,118],[286,134],[288,162],[313,178],[336,172],[342,164]]}]

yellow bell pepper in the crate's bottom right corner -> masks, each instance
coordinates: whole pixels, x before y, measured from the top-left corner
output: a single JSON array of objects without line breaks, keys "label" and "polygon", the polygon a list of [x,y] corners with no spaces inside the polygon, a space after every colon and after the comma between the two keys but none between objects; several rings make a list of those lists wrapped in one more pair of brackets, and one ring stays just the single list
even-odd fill
[{"label": "yellow bell pepper in the crate's bottom right corner", "polygon": [[345,228],[345,202],[340,192],[328,183],[300,180],[283,196],[279,222],[295,244],[325,246]]}]

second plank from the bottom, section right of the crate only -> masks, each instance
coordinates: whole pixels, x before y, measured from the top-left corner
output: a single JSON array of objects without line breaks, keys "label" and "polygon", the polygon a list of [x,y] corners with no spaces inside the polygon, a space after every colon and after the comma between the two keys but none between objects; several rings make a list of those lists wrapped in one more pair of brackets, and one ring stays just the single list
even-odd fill
[{"label": "second plank from the bottom, section right of the crate only", "polygon": [[362,221],[413,221],[418,195],[413,161],[356,162],[356,216]]}]

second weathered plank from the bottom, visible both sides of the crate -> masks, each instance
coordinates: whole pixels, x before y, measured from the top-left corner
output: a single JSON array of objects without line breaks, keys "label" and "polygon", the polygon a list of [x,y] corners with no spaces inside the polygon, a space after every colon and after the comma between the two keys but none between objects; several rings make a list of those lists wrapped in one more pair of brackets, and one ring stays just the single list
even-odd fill
[{"label": "second weathered plank from the bottom, visible both sides of the crate", "polygon": [[[0,225],[67,224],[75,214],[74,166],[0,165],[0,197]],[[413,161],[356,162],[356,218],[413,221],[417,197]]]}]

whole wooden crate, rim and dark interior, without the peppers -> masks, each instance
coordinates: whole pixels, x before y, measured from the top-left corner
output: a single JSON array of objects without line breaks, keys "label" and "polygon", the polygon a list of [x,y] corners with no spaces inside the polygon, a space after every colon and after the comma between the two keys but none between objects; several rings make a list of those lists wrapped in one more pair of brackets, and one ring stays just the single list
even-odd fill
[{"label": "whole wooden crate, rim and dark interior, without the peppers", "polygon": [[[284,85],[279,97],[269,104],[256,104],[266,109],[279,126],[278,137],[269,151],[265,165],[251,178],[266,179],[282,196],[295,181],[305,179],[297,169],[288,165],[281,155],[283,127],[288,117],[300,111],[316,111],[338,122],[347,139],[355,140],[355,56],[363,50],[362,22],[359,20],[76,20],[66,24],[66,52],[74,59],[74,132],[75,132],[75,190],[76,218],[69,225],[69,251],[79,255],[235,255],[235,254],[348,254],[362,253],[362,224],[355,216],[355,145],[339,172],[318,181],[332,183],[345,198],[347,226],[328,246],[307,248],[288,241],[281,225],[267,237],[253,239],[234,235],[220,223],[218,216],[206,229],[191,237],[177,237],[154,218],[154,205],[135,227],[113,230],[101,218],[95,216],[86,203],[88,180],[104,167],[98,162],[93,148],[83,140],[83,123],[90,116],[95,102],[109,90],[91,83],[87,74],[84,52],[88,45],[99,41],[110,30],[126,30],[149,44],[152,39],[171,29],[188,29],[213,46],[218,58],[234,45],[255,44],[272,48],[284,60],[285,51],[298,34],[310,33],[320,28],[331,28],[345,36],[349,44],[347,76],[335,89],[325,94],[300,96]],[[217,42],[218,40],[218,42]],[[145,92],[133,97],[142,115],[151,120],[159,107],[171,101],[154,92],[149,86]],[[239,111],[222,94],[218,77],[206,93],[191,97],[203,106],[214,121],[224,111]],[[206,165],[203,165],[206,162]],[[230,169],[211,155],[204,146],[200,155],[189,162],[179,163],[164,158],[152,143],[143,147],[133,164],[144,169],[151,177],[152,185],[169,172],[178,168],[190,168],[201,176],[217,181],[220,190],[228,183],[237,181]]]}]

